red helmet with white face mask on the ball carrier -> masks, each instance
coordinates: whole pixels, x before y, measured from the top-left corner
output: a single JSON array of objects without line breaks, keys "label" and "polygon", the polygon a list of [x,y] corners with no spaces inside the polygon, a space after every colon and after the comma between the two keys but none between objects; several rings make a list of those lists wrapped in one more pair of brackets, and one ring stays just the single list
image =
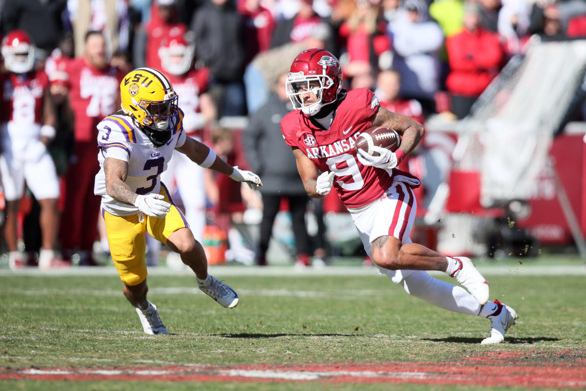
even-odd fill
[{"label": "red helmet with white face mask on the ball carrier", "polygon": [[[342,89],[342,67],[327,50],[304,50],[293,60],[286,83],[293,107],[315,115],[338,98]],[[317,101],[305,106],[303,95],[307,93],[315,94]]]}]

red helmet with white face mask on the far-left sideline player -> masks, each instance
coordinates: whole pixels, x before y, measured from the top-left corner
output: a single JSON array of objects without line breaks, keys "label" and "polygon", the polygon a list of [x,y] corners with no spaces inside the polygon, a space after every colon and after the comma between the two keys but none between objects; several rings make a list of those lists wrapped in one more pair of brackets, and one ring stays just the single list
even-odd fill
[{"label": "red helmet with white face mask on the far-left sideline player", "polygon": [[29,72],[35,63],[35,45],[25,31],[12,30],[2,39],[2,57],[10,72]]}]

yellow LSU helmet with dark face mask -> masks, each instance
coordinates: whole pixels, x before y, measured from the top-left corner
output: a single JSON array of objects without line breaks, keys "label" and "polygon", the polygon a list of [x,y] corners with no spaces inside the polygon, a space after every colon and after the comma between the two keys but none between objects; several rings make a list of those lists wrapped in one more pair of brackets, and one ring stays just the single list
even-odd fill
[{"label": "yellow LSU helmet with dark face mask", "polygon": [[122,110],[157,147],[171,138],[178,96],[171,81],[154,68],[138,68],[120,82]]}]

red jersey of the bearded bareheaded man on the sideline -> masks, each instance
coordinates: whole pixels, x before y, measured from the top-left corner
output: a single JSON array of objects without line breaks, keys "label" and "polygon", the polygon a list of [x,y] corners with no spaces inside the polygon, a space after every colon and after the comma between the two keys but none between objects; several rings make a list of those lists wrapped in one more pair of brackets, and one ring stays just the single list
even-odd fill
[{"label": "red jersey of the bearded bareheaded man on the sideline", "polygon": [[71,89],[69,101],[75,118],[75,140],[94,141],[97,124],[117,111],[118,86],[124,76],[113,66],[97,69],[85,57],[66,63]]}]

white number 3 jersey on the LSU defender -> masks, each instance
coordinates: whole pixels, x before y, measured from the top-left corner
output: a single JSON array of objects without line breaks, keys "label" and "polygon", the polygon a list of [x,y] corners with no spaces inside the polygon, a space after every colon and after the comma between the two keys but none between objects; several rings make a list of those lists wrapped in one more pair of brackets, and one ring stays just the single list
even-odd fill
[{"label": "white number 3 jersey on the LSU defender", "polygon": [[167,169],[173,150],[185,143],[183,111],[173,118],[171,138],[162,147],[155,147],[147,135],[127,115],[113,114],[98,124],[98,161],[100,172],[96,175],[94,193],[102,197],[101,208],[115,216],[138,213],[138,208],[113,199],[106,192],[104,159],[112,157],[128,162],[125,183],[138,194],[159,193],[161,173]]}]

